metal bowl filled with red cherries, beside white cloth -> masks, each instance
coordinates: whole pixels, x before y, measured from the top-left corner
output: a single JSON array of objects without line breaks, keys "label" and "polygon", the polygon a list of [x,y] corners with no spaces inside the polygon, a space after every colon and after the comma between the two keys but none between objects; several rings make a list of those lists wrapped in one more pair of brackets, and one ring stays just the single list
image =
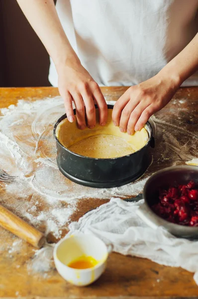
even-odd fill
[{"label": "metal bowl filled with red cherries, beside white cloth", "polygon": [[178,237],[198,239],[198,166],[172,166],[153,174],[144,186],[138,216]]}]

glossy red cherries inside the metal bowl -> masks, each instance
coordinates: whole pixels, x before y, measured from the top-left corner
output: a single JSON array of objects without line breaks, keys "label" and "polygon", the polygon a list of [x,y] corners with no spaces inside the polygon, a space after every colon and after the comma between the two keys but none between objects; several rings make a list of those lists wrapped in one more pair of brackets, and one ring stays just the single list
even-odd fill
[{"label": "glossy red cherries inside the metal bowl", "polygon": [[186,185],[160,189],[158,202],[151,208],[169,222],[198,226],[198,185],[190,181]]}]

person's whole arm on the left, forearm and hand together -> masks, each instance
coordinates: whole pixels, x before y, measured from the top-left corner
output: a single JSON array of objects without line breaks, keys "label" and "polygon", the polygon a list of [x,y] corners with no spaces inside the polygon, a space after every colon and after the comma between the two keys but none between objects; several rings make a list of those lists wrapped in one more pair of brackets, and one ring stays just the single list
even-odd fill
[{"label": "person's whole arm on the left, forearm and hand together", "polygon": [[[99,107],[99,123],[107,121],[107,105],[98,84],[81,65],[61,25],[54,0],[17,0],[23,13],[51,56],[58,73],[59,92],[68,120],[74,121],[72,101],[80,129],[96,125],[94,102]],[[35,17],[36,16],[36,17]]]}]

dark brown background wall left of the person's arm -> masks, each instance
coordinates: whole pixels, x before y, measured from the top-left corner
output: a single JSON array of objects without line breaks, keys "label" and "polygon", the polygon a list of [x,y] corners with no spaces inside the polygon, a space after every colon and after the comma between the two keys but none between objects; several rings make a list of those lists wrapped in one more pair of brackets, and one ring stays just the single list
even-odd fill
[{"label": "dark brown background wall left of the person's arm", "polygon": [[48,53],[17,1],[0,0],[0,87],[50,86],[48,70]]}]

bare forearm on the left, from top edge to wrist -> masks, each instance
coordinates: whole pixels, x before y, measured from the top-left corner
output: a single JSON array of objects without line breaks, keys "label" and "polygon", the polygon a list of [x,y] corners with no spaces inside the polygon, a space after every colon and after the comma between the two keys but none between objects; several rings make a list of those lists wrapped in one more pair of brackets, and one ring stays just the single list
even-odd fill
[{"label": "bare forearm on the left, from top edge to wrist", "polygon": [[63,30],[53,0],[17,0],[32,28],[52,57],[56,68],[79,59]]}]

